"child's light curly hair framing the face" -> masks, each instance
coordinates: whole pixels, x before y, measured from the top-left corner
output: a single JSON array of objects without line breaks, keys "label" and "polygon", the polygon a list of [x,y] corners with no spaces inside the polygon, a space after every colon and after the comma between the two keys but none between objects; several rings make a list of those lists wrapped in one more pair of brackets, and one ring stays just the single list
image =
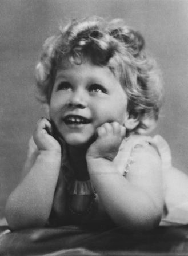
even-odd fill
[{"label": "child's light curly hair framing the face", "polygon": [[128,97],[129,115],[139,119],[137,129],[144,127],[146,119],[151,123],[158,119],[163,99],[161,74],[154,58],[146,53],[141,34],[127,27],[122,19],[73,19],[60,28],[59,34],[47,38],[36,67],[43,102],[50,101],[58,68],[79,65],[83,58],[89,58],[94,65],[107,66],[117,77]]}]

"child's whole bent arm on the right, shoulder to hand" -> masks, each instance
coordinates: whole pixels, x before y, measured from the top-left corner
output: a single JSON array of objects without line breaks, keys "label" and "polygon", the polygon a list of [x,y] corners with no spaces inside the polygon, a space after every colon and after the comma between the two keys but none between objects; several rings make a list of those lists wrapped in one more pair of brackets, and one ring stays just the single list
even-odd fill
[{"label": "child's whole bent arm on the right, shoulder to hand", "polygon": [[124,178],[115,168],[114,157],[122,141],[121,128],[112,123],[100,131],[87,152],[90,178],[107,213],[126,230],[148,230],[157,226],[162,215],[163,191],[161,160],[148,145],[134,149],[134,163]]}]

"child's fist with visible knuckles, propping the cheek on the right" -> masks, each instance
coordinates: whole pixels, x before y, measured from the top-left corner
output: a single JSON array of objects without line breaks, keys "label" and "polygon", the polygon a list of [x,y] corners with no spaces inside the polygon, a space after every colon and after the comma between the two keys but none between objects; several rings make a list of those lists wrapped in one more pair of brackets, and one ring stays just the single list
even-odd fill
[{"label": "child's fist with visible knuckles, propping the cheek on the right", "polygon": [[97,140],[87,150],[87,159],[104,158],[113,161],[125,137],[126,128],[118,122],[105,123],[97,128]]}]

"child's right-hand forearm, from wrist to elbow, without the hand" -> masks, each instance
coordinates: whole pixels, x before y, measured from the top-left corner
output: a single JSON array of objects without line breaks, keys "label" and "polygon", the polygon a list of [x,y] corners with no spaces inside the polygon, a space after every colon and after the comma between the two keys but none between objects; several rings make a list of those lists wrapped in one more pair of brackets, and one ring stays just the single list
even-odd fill
[{"label": "child's right-hand forearm, from wrist to elbow, without the hand", "polygon": [[117,225],[128,230],[147,230],[158,225],[163,203],[155,203],[147,192],[131,184],[113,162],[91,159],[87,164],[95,190]]}]

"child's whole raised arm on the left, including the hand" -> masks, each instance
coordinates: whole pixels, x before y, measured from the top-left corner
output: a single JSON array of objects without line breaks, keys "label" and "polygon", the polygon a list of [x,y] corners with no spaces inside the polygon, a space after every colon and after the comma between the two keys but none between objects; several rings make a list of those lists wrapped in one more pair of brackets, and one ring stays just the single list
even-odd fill
[{"label": "child's whole raised arm on the left, including the hand", "polygon": [[38,122],[25,164],[27,174],[7,200],[6,218],[12,230],[44,226],[49,218],[61,165],[61,147],[47,133],[50,127],[46,119]]}]

